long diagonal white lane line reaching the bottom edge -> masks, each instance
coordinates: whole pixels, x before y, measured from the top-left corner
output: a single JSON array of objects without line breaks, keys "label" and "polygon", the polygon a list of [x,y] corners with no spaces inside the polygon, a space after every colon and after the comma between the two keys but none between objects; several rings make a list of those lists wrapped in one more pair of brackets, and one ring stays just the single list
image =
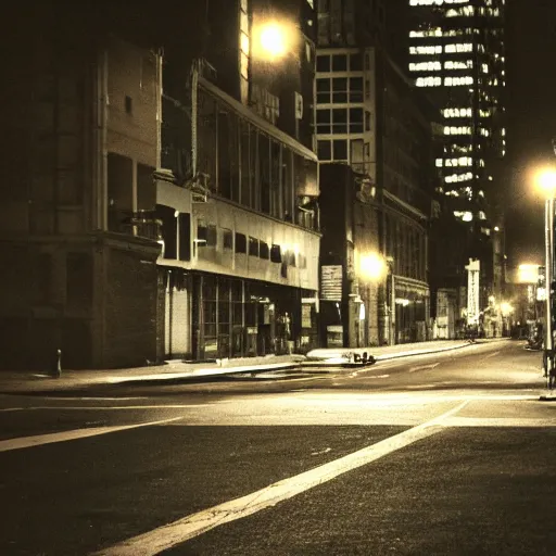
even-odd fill
[{"label": "long diagonal white lane line reaching the bottom edge", "polygon": [[467,401],[434,419],[418,425],[400,434],[382,440],[339,459],[305,471],[295,477],[266,486],[260,491],[225,502],[218,506],[186,516],[177,521],[134,536],[109,548],[94,553],[96,556],[151,556],[169,549],[198,536],[217,526],[250,516],[291,498],[336,477],[367,465],[396,450],[431,437],[442,430],[443,420],[455,415],[467,405]]}]

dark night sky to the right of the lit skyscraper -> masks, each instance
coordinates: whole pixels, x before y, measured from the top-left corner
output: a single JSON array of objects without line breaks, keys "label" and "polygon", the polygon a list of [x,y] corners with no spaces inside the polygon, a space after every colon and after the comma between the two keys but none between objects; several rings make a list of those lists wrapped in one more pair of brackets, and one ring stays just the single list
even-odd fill
[{"label": "dark night sky to the right of the lit skyscraper", "polygon": [[509,266],[542,263],[543,198],[531,170],[554,164],[556,1],[507,0],[506,252]]}]

